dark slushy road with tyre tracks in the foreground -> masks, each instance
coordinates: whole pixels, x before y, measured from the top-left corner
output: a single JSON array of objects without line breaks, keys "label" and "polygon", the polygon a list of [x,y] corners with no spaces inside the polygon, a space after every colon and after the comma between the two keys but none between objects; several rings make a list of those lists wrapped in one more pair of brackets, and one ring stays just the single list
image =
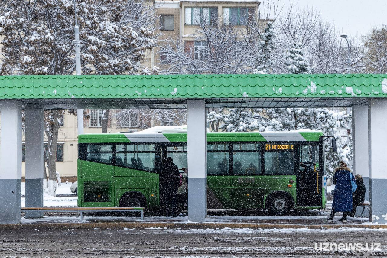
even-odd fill
[{"label": "dark slushy road with tyre tracks in the foreground", "polygon": [[[0,257],[387,256],[381,229],[0,229]],[[382,251],[318,251],[315,243],[381,243]]]}]

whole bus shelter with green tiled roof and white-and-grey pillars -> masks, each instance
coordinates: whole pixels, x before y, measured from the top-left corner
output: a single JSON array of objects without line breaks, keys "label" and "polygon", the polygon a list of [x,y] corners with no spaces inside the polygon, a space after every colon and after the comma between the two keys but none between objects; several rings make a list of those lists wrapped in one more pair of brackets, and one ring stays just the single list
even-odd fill
[{"label": "whole bus shelter with green tiled roof and white-and-grey pillars", "polygon": [[[21,222],[22,109],[26,206],[43,206],[43,110],[187,108],[188,219],[206,216],[205,108],[351,107],[353,170],[370,221],[387,220],[387,75],[0,76],[0,223]],[[41,217],[30,211],[29,218]]]}]

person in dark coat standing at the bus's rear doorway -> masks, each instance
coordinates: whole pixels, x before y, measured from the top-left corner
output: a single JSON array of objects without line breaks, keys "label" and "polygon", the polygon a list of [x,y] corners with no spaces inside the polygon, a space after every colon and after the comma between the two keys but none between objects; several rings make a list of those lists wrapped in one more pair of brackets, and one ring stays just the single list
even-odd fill
[{"label": "person in dark coat standing at the bus's rear doorway", "polygon": [[159,174],[160,208],[164,216],[175,216],[177,190],[180,184],[179,169],[171,157],[163,162]]}]

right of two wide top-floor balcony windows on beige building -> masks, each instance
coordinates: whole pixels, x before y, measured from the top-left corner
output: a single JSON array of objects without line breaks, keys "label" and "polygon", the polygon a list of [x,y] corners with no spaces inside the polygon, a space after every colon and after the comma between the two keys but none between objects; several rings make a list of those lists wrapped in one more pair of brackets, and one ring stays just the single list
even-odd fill
[{"label": "right of two wide top-floor balcony windows on beige building", "polygon": [[253,7],[224,7],[224,25],[247,25],[254,19],[255,8]]}]

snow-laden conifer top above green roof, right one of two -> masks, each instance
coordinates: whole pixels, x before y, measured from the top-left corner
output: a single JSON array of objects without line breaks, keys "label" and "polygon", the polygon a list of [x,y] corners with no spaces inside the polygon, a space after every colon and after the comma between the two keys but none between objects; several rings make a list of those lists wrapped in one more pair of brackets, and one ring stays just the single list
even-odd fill
[{"label": "snow-laden conifer top above green roof, right one of two", "polygon": [[313,72],[309,62],[305,60],[302,51],[302,43],[292,41],[286,52],[286,65],[288,65],[289,74],[310,74]]}]

